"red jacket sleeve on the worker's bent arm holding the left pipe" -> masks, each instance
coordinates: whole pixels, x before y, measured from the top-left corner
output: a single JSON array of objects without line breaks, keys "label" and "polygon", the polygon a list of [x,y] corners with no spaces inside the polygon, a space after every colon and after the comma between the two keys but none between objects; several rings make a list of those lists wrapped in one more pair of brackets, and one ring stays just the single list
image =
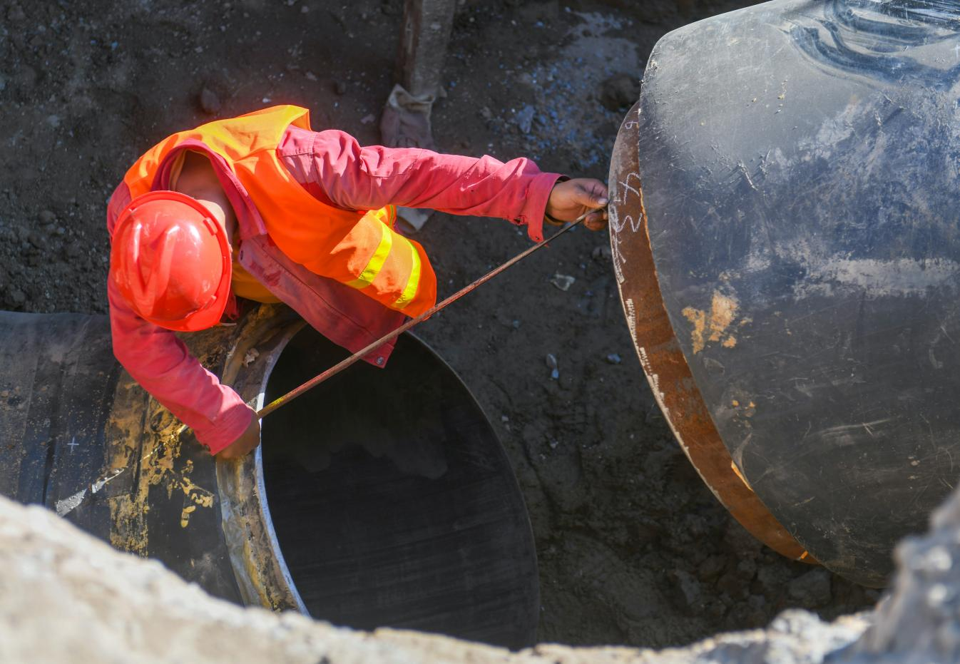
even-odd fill
[{"label": "red jacket sleeve on the worker's bent arm holding the left pipe", "polygon": [[[108,208],[111,230],[116,208]],[[239,438],[252,417],[240,395],[221,385],[172,331],[133,313],[110,279],[107,292],[113,354],[133,379],[193,429],[211,454]]]}]

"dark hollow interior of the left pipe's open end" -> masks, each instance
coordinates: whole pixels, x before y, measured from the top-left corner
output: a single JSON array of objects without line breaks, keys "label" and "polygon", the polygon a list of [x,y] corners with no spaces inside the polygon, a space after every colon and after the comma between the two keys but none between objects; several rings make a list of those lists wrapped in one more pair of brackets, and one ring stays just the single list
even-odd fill
[{"label": "dark hollow interior of the left pipe's open end", "polygon": [[[311,328],[267,400],[347,356]],[[539,581],[516,478],[480,407],[404,335],[387,368],[358,363],[263,420],[267,502],[315,618],[509,648],[536,637]]]}]

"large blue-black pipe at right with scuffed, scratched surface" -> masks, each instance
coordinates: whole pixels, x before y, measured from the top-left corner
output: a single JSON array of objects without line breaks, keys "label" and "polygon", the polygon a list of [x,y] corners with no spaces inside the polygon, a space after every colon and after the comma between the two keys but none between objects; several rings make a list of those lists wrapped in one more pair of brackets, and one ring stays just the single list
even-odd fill
[{"label": "large blue-black pipe at right with scuffed, scratched surface", "polygon": [[[613,260],[661,403],[702,397],[768,522],[872,585],[960,475],[958,29],[933,0],[686,26],[649,59],[636,163],[612,169]],[[643,279],[672,340],[644,338]],[[648,361],[669,344],[685,384]]]}]

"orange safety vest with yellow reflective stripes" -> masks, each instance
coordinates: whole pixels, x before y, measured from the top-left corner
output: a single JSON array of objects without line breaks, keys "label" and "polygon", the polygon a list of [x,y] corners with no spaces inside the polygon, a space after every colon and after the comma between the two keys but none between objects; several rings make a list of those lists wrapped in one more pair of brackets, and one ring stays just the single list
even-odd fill
[{"label": "orange safety vest with yellow reflective stripes", "polygon": [[[199,140],[224,158],[247,189],[267,233],[293,261],[411,317],[432,307],[437,277],[420,244],[394,230],[393,205],[371,211],[327,205],[283,167],[276,148],[291,124],[309,130],[309,111],[264,108],[180,131],[137,159],[124,182],[132,198],[147,193],[164,157],[184,141]],[[280,227],[282,232],[272,232]]]}]

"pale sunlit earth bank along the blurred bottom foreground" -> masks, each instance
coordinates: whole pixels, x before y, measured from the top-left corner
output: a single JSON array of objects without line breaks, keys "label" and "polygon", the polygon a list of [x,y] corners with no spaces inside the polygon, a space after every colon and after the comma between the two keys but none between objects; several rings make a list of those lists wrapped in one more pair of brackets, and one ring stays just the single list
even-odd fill
[{"label": "pale sunlit earth bank along the blurred bottom foreground", "polygon": [[[960,495],[933,531],[900,545],[892,594],[876,610],[821,622],[800,610],[766,629],[685,649],[539,646],[510,653],[388,629],[333,628],[215,600],[159,563],[118,553],[52,512],[0,498],[0,661],[97,662],[831,662],[957,661]],[[873,625],[871,625],[873,623]]]}]

